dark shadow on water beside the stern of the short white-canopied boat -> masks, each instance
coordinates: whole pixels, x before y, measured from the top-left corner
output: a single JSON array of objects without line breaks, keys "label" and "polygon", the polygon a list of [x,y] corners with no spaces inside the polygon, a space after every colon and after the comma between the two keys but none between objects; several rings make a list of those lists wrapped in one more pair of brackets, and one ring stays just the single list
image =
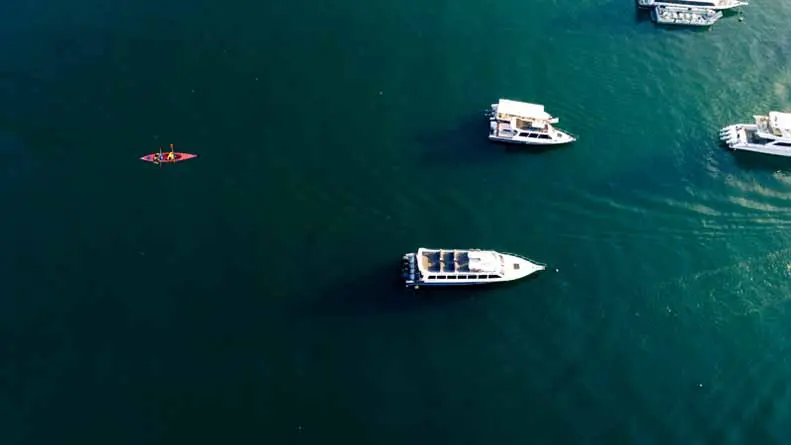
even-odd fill
[{"label": "dark shadow on water beside the stern of the short white-canopied boat", "polygon": [[452,128],[419,135],[420,157],[429,164],[470,164],[501,159],[487,138],[489,119],[484,113],[470,113]]}]

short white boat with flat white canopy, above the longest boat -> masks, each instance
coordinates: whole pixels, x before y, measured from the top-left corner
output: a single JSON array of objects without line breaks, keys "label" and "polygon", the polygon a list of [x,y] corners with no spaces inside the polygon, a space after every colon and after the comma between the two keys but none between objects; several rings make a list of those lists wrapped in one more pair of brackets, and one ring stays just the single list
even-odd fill
[{"label": "short white boat with flat white canopy, above the longest boat", "polygon": [[574,142],[570,133],[552,124],[558,118],[544,111],[543,105],[500,99],[492,104],[489,118],[489,139],[527,145],[558,145]]}]

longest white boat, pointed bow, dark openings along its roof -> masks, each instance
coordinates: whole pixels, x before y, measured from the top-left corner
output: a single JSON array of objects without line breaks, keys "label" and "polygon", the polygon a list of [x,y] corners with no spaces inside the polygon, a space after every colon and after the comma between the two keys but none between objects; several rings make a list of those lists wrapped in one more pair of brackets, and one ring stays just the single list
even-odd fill
[{"label": "longest white boat, pointed bow, dark openings along its roof", "polygon": [[421,247],[401,260],[404,283],[415,289],[514,281],[545,268],[519,255],[480,249]]}]

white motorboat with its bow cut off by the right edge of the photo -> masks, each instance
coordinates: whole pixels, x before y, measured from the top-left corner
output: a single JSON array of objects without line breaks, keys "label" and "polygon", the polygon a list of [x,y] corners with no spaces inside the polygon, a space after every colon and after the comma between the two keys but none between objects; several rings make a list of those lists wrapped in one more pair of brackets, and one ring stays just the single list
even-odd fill
[{"label": "white motorboat with its bow cut off by the right edge of the photo", "polygon": [[791,113],[770,111],[753,118],[755,123],[723,128],[720,140],[731,150],[791,156]]}]

